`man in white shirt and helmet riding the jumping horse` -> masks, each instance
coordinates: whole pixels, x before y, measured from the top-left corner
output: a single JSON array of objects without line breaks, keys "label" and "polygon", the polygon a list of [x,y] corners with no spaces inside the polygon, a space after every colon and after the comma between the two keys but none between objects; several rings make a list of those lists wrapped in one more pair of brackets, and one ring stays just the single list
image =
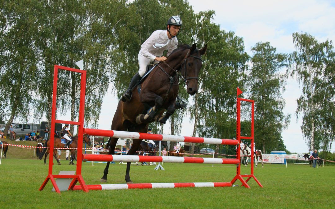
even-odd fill
[{"label": "man in white shirt and helmet riding the jumping horse", "polygon": [[[143,77],[147,66],[152,62],[155,64],[164,62],[166,57],[162,56],[163,52],[167,50],[167,56],[169,56],[177,48],[178,39],[176,36],[182,25],[180,17],[172,16],[167,20],[166,30],[156,30],[144,41],[138,53],[139,71],[133,76],[127,91],[122,95],[121,100],[123,102],[130,101],[132,90]],[[186,106],[187,104],[176,102],[176,108],[184,108]]]}]

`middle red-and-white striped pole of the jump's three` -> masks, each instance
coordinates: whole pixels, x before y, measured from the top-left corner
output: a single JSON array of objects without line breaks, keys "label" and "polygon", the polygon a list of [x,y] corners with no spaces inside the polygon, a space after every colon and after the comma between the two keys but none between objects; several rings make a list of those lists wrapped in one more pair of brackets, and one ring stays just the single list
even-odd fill
[{"label": "middle red-and-white striped pole of the jump's three", "polygon": [[172,156],[116,155],[116,154],[82,154],[83,161],[107,162],[162,162],[162,163],[203,163],[203,164],[238,164],[238,159],[194,158]]}]

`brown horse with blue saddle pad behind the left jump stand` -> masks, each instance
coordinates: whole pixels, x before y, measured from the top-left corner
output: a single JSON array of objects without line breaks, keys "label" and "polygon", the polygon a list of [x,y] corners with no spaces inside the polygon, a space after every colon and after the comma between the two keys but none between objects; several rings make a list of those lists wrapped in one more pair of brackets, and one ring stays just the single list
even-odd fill
[{"label": "brown horse with blue saddle pad behind the left jump stand", "polygon": [[[72,143],[69,144],[69,150],[71,152],[71,158],[70,158],[70,162],[69,162],[69,165],[74,165],[73,163],[73,160],[75,159],[75,152],[76,152],[76,148],[78,148],[78,136],[74,136],[74,137],[71,137],[72,138]],[[88,134],[84,134],[83,136],[83,141],[88,145],[90,146],[91,145],[91,141],[90,141],[90,138],[89,138],[89,135]],[[44,148],[43,148],[43,151],[40,153],[40,160],[42,160],[43,158],[43,155],[44,153],[47,151],[47,153],[45,154],[45,158],[44,158],[44,164],[47,164],[46,162],[46,159],[47,159],[47,156],[50,152],[50,148],[46,148],[46,147],[50,147],[50,140],[47,140],[46,143],[44,144]],[[61,163],[58,161],[57,157],[56,157],[56,147],[64,147],[64,144],[61,142],[61,139],[58,138],[58,137],[55,137],[54,139],[54,157],[58,163],[58,165],[61,165]],[[81,154],[81,153],[80,153]]]}]

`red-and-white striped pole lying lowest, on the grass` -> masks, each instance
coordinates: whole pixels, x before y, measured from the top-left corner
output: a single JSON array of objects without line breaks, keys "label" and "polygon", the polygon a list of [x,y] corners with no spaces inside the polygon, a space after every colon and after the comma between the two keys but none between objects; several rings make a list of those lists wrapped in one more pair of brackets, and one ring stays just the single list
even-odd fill
[{"label": "red-and-white striped pole lying lowest, on the grass", "polygon": [[[144,183],[144,184],[97,184],[86,185],[88,190],[115,190],[115,189],[154,189],[177,187],[231,187],[230,182],[198,182],[198,183]],[[80,185],[73,190],[82,190]]]}]

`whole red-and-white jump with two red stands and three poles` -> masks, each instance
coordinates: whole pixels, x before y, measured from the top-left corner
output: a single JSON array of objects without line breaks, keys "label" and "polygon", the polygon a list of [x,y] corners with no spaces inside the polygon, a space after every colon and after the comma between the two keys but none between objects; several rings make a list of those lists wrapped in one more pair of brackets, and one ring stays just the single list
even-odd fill
[{"label": "whole red-and-white jump with two red stands and three poles", "polygon": [[[56,98],[57,98],[57,80],[58,70],[67,70],[81,74],[80,82],[80,103],[79,103],[79,117],[78,122],[56,120]],[[241,139],[251,140],[251,156],[254,156],[254,100],[242,99],[238,95],[242,91],[238,88],[237,93],[237,139],[218,139],[218,138],[203,138],[203,137],[190,137],[190,136],[174,136],[163,134],[147,134],[136,133],[127,131],[113,131],[113,130],[99,130],[84,128],[84,107],[85,107],[85,90],[86,90],[86,71],[63,66],[54,66],[54,85],[53,85],[53,100],[52,100],[52,118],[51,118],[51,133],[54,132],[55,123],[67,123],[78,125],[78,154],[75,175],[55,175],[53,174],[53,153],[54,153],[54,135],[50,137],[50,154],[49,154],[49,171],[48,176],[40,187],[40,191],[44,189],[50,180],[57,193],[60,190],[56,184],[56,178],[69,178],[72,179],[68,190],[106,190],[106,189],[151,189],[151,188],[176,188],[176,187],[231,187],[237,180],[240,180],[242,186],[250,188],[247,182],[253,178],[260,187],[261,183],[254,176],[254,162],[251,161],[251,174],[241,175],[241,156],[240,149],[237,149],[236,159],[212,159],[212,158],[194,158],[194,157],[172,157],[172,156],[139,156],[139,155],[95,155],[95,154],[82,154],[83,135],[85,133],[94,136],[109,136],[119,138],[132,138],[132,139],[154,139],[165,141],[180,141],[192,143],[209,143],[209,144],[226,144],[226,145],[239,145]],[[241,136],[241,115],[240,107],[241,101],[251,103],[251,136]],[[103,185],[86,185],[81,176],[82,161],[113,161],[113,162],[170,162],[170,163],[204,163],[204,164],[235,164],[236,176],[230,182],[203,182],[203,183],[142,183],[142,184],[103,184]],[[248,178],[244,180],[244,178]],[[79,182],[79,185],[76,183]]]}]

